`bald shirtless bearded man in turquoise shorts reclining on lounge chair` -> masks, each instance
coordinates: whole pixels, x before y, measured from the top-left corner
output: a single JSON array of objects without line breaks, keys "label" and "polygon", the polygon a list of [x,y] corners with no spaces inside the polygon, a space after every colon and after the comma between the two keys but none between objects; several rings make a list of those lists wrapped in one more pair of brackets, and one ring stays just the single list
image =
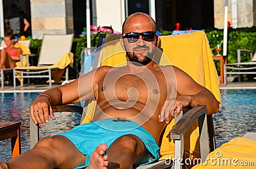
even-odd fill
[{"label": "bald shirtless bearded man in turquoise shorts reclining on lounge chair", "polygon": [[[154,62],[159,36],[151,17],[145,13],[128,17],[120,43],[127,51],[127,66],[102,66],[70,84],[43,92],[31,103],[33,121],[45,125],[49,116],[55,119],[51,105],[95,98],[93,122],[43,138],[31,151],[2,162],[5,168],[75,168],[85,163],[87,168],[132,168],[158,158],[159,137],[175,109],[179,114],[182,107],[207,105],[207,114],[218,112],[218,101],[205,87],[175,66]],[[86,137],[88,132],[91,135]],[[110,138],[111,142],[112,135],[118,136]],[[94,150],[92,154],[89,148]]]}]

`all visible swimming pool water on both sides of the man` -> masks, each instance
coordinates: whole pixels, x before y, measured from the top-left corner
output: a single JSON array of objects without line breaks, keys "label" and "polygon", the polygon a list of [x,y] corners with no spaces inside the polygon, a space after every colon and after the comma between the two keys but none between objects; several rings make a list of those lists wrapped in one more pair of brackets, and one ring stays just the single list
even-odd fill
[{"label": "all visible swimming pool water on both sides of the man", "polygon": [[[29,105],[38,93],[2,93],[0,121],[21,121],[21,151],[29,150]],[[212,115],[216,147],[246,131],[256,132],[256,90],[222,90],[220,112]],[[80,122],[79,114],[56,114],[56,121],[40,129],[40,136],[52,136],[67,131]],[[10,139],[0,142],[0,160],[11,158]]]}]

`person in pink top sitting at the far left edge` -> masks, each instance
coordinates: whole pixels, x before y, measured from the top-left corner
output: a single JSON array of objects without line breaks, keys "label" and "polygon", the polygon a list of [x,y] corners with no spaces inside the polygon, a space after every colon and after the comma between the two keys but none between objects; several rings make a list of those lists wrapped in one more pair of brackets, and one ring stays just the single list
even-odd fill
[{"label": "person in pink top sitting at the far left edge", "polygon": [[21,48],[14,47],[14,34],[12,29],[8,29],[4,34],[4,43],[6,47],[1,50],[0,69],[15,68],[15,63],[20,61],[22,50]]}]

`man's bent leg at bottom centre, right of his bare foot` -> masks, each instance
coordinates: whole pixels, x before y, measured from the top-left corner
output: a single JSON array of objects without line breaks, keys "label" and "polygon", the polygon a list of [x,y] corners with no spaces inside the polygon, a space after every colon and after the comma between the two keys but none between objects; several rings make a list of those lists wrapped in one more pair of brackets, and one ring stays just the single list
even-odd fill
[{"label": "man's bent leg at bottom centre, right of his bare foot", "polygon": [[107,153],[108,168],[132,168],[150,159],[144,143],[135,135],[124,135],[111,144]]}]

